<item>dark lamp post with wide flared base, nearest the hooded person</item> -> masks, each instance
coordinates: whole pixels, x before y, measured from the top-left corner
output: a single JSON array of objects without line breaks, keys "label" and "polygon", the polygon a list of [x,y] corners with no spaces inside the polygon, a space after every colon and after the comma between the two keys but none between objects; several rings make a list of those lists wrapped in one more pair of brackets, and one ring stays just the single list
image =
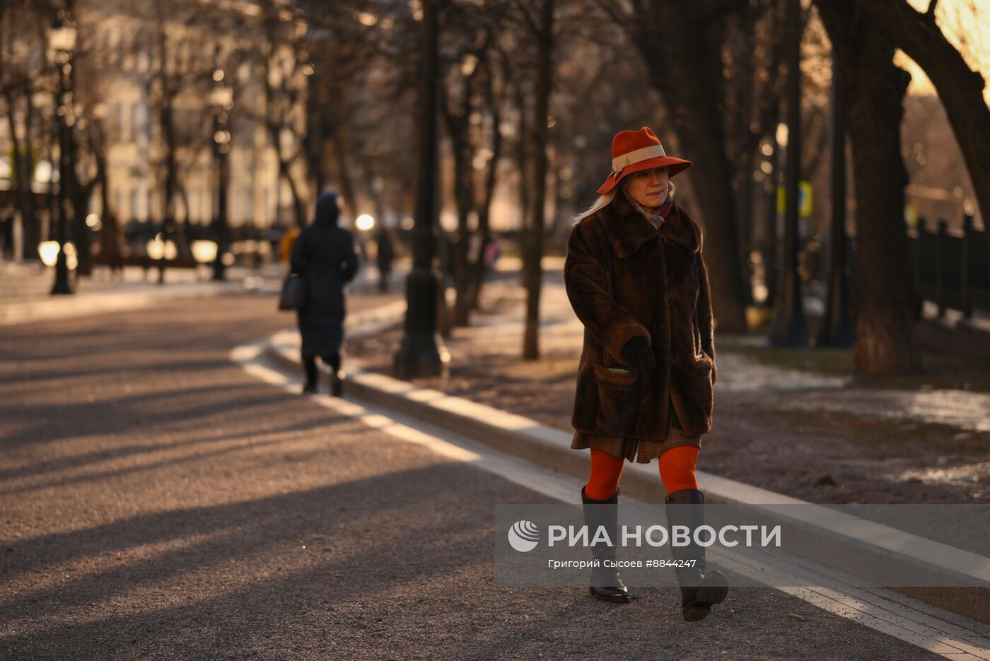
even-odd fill
[{"label": "dark lamp post with wide flared base, nearest the hooded person", "polygon": [[413,269],[406,281],[406,323],[393,370],[399,378],[446,374],[449,354],[437,341],[437,2],[423,0],[420,27],[420,172],[413,227]]}]

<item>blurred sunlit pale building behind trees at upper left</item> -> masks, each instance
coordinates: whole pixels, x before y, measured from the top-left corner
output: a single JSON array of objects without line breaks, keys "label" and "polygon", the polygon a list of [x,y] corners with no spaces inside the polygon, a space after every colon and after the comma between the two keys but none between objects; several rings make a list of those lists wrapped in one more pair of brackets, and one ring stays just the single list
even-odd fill
[{"label": "blurred sunlit pale building behind trees at upper left", "polygon": [[[166,143],[175,149],[175,218],[180,226],[208,226],[217,213],[218,182],[214,113],[228,112],[230,182],[228,219],[232,228],[268,228],[295,222],[292,194],[279,176],[272,147],[269,101],[298,112],[282,113],[278,140],[284,153],[299,151],[305,133],[306,78],[303,62],[289,42],[305,33],[291,15],[264,15],[253,3],[144,3],[92,0],[80,3],[74,54],[76,141],[87,160],[77,171],[91,171],[91,152],[106,157],[109,203],[125,229],[159,226],[164,200]],[[272,31],[281,31],[274,34]],[[271,35],[268,42],[259,35]],[[37,45],[41,48],[44,45]],[[222,73],[221,73],[222,72]],[[265,76],[269,85],[265,85]],[[233,92],[233,107],[217,109],[217,85]],[[271,92],[274,92],[271,94]],[[171,108],[163,94],[174,96]],[[291,103],[286,95],[291,94]],[[35,95],[36,190],[48,191],[56,154],[45,136],[53,93]],[[171,136],[162,130],[162,114],[171,113]],[[98,125],[98,126],[97,126]],[[166,141],[167,139],[167,141]],[[22,141],[23,143],[23,141]],[[0,180],[12,177],[13,147],[6,118],[0,126]],[[296,158],[294,177],[303,207],[310,208],[304,158]],[[86,174],[83,175],[88,176]],[[10,181],[0,189],[10,189]],[[92,210],[103,213],[94,189]],[[40,200],[40,208],[46,205]],[[48,234],[44,223],[43,235]]]}]

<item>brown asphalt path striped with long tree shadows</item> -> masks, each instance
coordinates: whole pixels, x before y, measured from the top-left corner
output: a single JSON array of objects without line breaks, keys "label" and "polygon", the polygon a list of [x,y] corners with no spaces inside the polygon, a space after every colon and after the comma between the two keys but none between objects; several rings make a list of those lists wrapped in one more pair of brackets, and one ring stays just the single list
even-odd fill
[{"label": "brown asphalt path striped with long tree shadows", "polygon": [[249,375],[273,308],[0,328],[0,658],[937,658],[772,589],[496,587],[494,506],[551,501]]}]

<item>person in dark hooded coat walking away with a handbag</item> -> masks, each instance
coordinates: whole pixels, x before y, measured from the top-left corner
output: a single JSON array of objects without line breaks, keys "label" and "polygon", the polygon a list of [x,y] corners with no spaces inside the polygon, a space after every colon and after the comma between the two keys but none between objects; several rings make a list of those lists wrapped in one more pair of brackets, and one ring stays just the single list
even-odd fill
[{"label": "person in dark hooded coat walking away with a handbag", "polygon": [[302,358],[306,371],[303,393],[317,390],[316,359],[331,369],[331,394],[340,397],[344,388],[341,344],[347,305],[344,287],[357,273],[354,238],[337,225],[341,210],[336,193],[324,193],[316,203],[316,218],[292,245],[292,272],[305,282],[306,298],[299,309]]}]

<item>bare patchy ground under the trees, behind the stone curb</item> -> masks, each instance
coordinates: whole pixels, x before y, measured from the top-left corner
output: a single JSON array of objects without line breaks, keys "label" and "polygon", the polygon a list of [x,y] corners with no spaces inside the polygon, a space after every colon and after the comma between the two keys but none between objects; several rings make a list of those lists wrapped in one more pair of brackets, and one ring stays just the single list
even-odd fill
[{"label": "bare patchy ground under the trees, behind the stone curb", "polygon": [[[546,314],[542,359],[524,362],[517,323],[522,290],[486,294],[472,326],[455,329],[445,340],[451,354],[448,378],[415,383],[572,431],[580,338],[569,320]],[[560,296],[559,288],[547,287],[545,308],[562,305],[572,317]],[[389,373],[387,357],[400,339],[397,327],[355,338],[348,351],[365,369]],[[860,395],[835,386],[739,387],[776,372],[732,351],[718,355],[715,425],[702,436],[699,469],[813,503],[990,502],[990,432],[898,418],[874,406],[842,411],[842,401]],[[730,387],[730,381],[736,385]]]}]

